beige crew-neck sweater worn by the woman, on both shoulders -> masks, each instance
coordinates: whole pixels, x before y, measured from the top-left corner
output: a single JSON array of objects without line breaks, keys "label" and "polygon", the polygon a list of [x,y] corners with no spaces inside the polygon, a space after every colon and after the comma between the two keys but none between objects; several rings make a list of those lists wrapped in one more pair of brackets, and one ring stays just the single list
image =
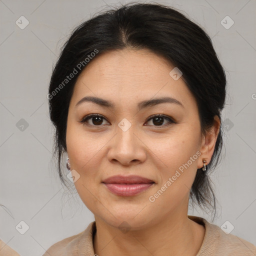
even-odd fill
[{"label": "beige crew-neck sweater worn by the woman, on both shoulders", "polygon": [[[224,233],[220,227],[204,218],[189,215],[188,218],[205,227],[203,242],[196,256],[256,255],[256,246],[252,243],[230,233]],[[42,256],[93,256],[94,233],[95,221],[90,222],[84,231],[54,243]]]}]

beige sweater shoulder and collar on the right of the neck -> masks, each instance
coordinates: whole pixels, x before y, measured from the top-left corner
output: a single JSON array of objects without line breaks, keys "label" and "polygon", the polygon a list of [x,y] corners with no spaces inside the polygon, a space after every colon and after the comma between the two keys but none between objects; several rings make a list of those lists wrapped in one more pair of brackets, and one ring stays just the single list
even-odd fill
[{"label": "beige sweater shoulder and collar on the right of the neck", "polygon": [[252,243],[230,233],[225,233],[222,229],[206,219],[196,216],[189,216],[190,219],[205,227],[204,239],[197,255],[232,255],[232,256],[254,256],[256,246]]}]

